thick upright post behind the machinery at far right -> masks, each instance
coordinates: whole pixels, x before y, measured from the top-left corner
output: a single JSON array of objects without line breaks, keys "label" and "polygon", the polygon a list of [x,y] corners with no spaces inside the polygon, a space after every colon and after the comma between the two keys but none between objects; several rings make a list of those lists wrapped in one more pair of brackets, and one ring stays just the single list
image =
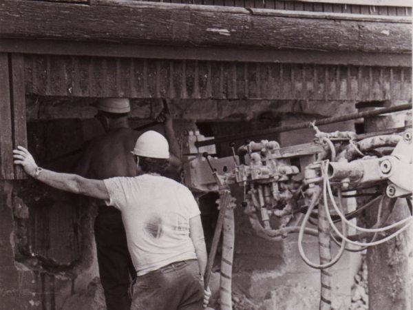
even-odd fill
[{"label": "thick upright post behind the machinery at far right", "polygon": [[[365,132],[396,127],[400,121],[404,123],[403,119],[400,120],[400,114],[398,116],[394,114],[374,116],[374,118],[365,119]],[[394,201],[386,197],[383,201],[383,218],[390,212],[392,216],[385,223],[386,225],[410,216],[410,211],[404,198],[397,199],[394,204]],[[370,209],[368,214],[369,225],[373,225],[376,220],[377,208]],[[369,309],[413,309],[412,284],[409,272],[411,231],[412,229],[407,229],[396,238],[382,245],[368,248]]]}]

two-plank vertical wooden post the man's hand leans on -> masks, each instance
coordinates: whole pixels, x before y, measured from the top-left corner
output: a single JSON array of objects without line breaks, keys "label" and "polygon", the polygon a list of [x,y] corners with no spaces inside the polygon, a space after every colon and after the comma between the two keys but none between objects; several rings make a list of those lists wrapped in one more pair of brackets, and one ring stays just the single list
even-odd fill
[{"label": "two-plank vertical wooden post the man's hand leans on", "polygon": [[27,147],[24,63],[21,54],[0,53],[0,179],[25,178],[12,149]]}]

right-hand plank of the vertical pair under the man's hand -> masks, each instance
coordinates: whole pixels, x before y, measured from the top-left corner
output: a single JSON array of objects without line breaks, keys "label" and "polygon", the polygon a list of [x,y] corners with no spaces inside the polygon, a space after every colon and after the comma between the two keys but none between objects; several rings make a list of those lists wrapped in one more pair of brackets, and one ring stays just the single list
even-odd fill
[{"label": "right-hand plank of the vertical pair under the man's hand", "polygon": [[[26,110],[25,110],[25,81],[24,81],[24,58],[22,54],[10,54],[12,67],[11,87],[11,110],[13,127],[13,147],[21,145],[28,147],[28,137],[26,130]],[[27,174],[20,165],[14,166],[14,178],[27,178]]]}]

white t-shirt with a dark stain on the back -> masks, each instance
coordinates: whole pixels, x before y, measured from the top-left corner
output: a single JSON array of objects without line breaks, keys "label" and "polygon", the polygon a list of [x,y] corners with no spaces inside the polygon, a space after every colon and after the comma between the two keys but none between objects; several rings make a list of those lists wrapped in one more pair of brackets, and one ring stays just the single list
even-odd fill
[{"label": "white t-shirt with a dark stain on the back", "polygon": [[122,212],[132,262],[141,276],[171,262],[196,258],[189,219],[200,214],[192,193],[163,176],[104,180],[109,201]]}]

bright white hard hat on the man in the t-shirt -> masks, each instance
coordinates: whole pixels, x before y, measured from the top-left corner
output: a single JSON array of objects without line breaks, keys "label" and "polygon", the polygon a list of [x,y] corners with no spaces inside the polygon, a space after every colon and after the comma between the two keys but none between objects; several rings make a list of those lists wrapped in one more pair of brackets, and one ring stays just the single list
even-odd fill
[{"label": "bright white hard hat on the man in the t-shirt", "polygon": [[149,130],[136,140],[132,154],[151,158],[169,158],[169,144],[165,136]]}]

